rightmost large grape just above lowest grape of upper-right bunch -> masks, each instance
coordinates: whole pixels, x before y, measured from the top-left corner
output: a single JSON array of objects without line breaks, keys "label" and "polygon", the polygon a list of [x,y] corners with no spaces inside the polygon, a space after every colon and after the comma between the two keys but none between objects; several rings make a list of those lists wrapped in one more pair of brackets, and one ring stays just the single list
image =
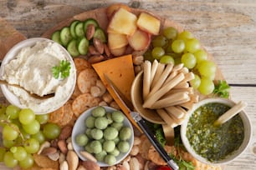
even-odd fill
[{"label": "rightmost large grape just above lowest grape of upper-right bunch", "polygon": [[212,77],[212,74],[215,75],[216,72],[216,65],[214,62],[211,61],[202,61],[198,63],[197,66],[198,72],[204,77]]}]

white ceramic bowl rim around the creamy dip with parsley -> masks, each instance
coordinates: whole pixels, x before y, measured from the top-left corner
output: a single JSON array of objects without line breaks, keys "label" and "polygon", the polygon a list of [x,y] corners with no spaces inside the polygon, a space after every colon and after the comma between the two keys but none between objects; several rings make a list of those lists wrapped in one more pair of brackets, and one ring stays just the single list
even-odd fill
[{"label": "white ceramic bowl rim around the creamy dip with parsley", "polygon": [[[1,68],[0,68],[0,78],[1,78],[1,77],[3,77],[3,74],[5,72],[5,68],[4,68],[5,65],[8,64],[8,62],[10,62],[12,59],[14,59],[16,57],[16,55],[18,54],[18,52],[20,52],[23,47],[33,47],[33,45],[36,42],[40,42],[40,41],[53,42],[53,43],[56,43],[57,46],[59,46],[60,52],[62,52],[64,54],[64,57],[66,58],[66,60],[68,60],[70,62],[71,69],[69,72],[69,80],[68,81],[71,83],[71,86],[66,89],[68,94],[61,101],[59,100],[56,102],[49,102],[49,104],[47,104],[45,106],[45,107],[49,107],[49,108],[39,109],[38,108],[39,104],[41,104],[43,102],[38,101],[38,104],[35,104],[35,107],[32,108],[36,114],[44,114],[44,113],[48,113],[48,112],[54,112],[54,110],[57,110],[59,107],[63,106],[64,103],[69,100],[69,97],[71,97],[72,92],[74,91],[74,86],[75,86],[75,82],[76,82],[76,72],[75,72],[73,58],[69,55],[69,52],[67,52],[67,50],[64,47],[62,47],[61,45],[59,45],[57,42],[54,42],[47,38],[44,38],[44,37],[29,38],[29,39],[23,40],[22,42],[18,42],[15,46],[13,46],[8,51],[6,56],[3,58],[3,62],[1,64]],[[44,63],[42,63],[42,64],[44,64]],[[20,98],[18,96],[16,96],[8,88],[8,86],[1,84],[0,87],[2,89],[3,95],[7,98],[8,102],[10,102],[11,104],[13,104],[15,106],[21,107],[21,108],[28,107],[26,104],[23,104],[20,101]],[[56,95],[59,95],[59,94],[55,93],[55,96]]]}]

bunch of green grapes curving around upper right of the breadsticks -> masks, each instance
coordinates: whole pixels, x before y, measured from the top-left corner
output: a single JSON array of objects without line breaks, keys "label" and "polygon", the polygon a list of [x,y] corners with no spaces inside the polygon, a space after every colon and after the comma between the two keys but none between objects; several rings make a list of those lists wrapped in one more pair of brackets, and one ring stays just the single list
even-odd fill
[{"label": "bunch of green grapes curving around upper right of the breadsticks", "polygon": [[204,95],[213,92],[216,65],[207,59],[207,52],[191,32],[177,32],[176,28],[165,28],[154,37],[151,47],[144,55],[146,60],[157,59],[161,63],[183,63],[195,78],[190,82],[192,87]]}]

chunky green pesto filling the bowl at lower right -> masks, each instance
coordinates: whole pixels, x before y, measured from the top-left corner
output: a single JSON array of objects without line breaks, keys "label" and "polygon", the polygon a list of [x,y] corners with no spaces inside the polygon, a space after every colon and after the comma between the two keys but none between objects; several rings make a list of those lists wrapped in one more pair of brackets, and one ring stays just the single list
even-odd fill
[{"label": "chunky green pesto filling the bowl at lower right", "polygon": [[210,162],[222,160],[243,143],[244,128],[239,115],[218,128],[213,126],[213,122],[229,108],[222,103],[207,103],[197,108],[187,123],[190,145]]}]

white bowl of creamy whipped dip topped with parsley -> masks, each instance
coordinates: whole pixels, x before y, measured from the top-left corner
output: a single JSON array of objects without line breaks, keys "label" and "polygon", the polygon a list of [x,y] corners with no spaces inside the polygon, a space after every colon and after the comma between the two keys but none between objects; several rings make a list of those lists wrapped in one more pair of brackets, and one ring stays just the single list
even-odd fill
[{"label": "white bowl of creamy whipped dip topped with parsley", "polygon": [[[26,89],[1,84],[8,102],[44,114],[54,112],[69,100],[74,91],[76,70],[73,58],[59,43],[34,37],[18,42],[9,50],[1,64],[0,78]],[[43,97],[53,93],[53,97]]]}]

